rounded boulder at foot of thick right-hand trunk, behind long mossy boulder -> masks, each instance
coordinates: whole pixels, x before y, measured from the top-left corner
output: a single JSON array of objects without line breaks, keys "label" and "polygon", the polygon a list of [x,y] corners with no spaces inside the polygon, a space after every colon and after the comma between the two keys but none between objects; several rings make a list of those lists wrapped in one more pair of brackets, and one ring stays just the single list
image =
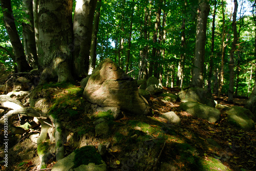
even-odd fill
[{"label": "rounded boulder at foot of thick right-hand trunk, behind long mossy boulder", "polygon": [[210,107],[215,107],[216,105],[211,93],[198,87],[190,87],[181,90],[178,94],[178,100],[181,102],[198,102]]}]

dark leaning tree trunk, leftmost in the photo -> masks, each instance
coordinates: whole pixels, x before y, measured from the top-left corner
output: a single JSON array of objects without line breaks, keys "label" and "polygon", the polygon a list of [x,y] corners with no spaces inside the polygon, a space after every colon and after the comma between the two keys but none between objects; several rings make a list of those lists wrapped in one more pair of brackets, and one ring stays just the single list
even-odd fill
[{"label": "dark leaning tree trunk, leftmost in the photo", "polygon": [[15,62],[17,63],[17,71],[23,72],[31,69],[28,62],[26,61],[24,48],[22,42],[20,42],[18,32],[15,26],[12,7],[10,0],[1,0],[2,11],[4,16],[5,28],[10,38],[12,48],[15,55]]}]

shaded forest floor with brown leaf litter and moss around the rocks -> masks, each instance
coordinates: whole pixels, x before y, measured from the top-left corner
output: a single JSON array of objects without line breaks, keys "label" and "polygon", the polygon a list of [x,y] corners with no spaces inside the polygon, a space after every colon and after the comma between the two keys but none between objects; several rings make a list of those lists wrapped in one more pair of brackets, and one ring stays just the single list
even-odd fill
[{"label": "shaded forest floor with brown leaf litter and moss around the rocks", "polygon": [[[60,91],[61,88],[58,89]],[[67,93],[69,92],[67,91]],[[170,90],[170,93],[177,94],[178,91]],[[217,123],[209,123],[206,120],[193,117],[188,113],[181,111],[179,109],[180,102],[164,102],[163,99],[163,96],[151,96],[149,101],[149,104],[153,109],[153,114],[151,116],[124,115],[124,117],[119,120],[112,120],[110,122],[111,133],[107,138],[95,136],[93,122],[96,118],[88,120],[88,117],[86,117],[85,114],[82,114],[79,118],[76,118],[76,120],[72,120],[73,126],[71,127],[82,125],[89,130],[89,132],[84,134],[87,145],[94,145],[97,148],[100,143],[105,144],[106,142],[111,142],[112,145],[108,149],[106,156],[103,158],[111,171],[141,170],[137,169],[139,166],[136,167],[135,164],[129,164],[127,159],[126,166],[129,167],[126,167],[125,169],[125,167],[123,167],[125,163],[122,162],[122,157],[127,154],[126,157],[131,158],[129,152],[131,152],[132,149],[135,149],[134,151],[137,151],[138,153],[133,162],[142,163],[142,157],[139,155],[141,148],[137,145],[140,137],[142,137],[141,142],[153,141],[155,143],[155,146],[153,146],[155,152],[150,151],[150,149],[145,148],[145,146],[143,146],[143,148],[148,151],[149,157],[152,157],[155,160],[157,159],[153,164],[147,161],[149,166],[143,170],[155,170],[155,168],[156,170],[164,170],[163,168],[165,168],[165,170],[170,171],[256,170],[255,130],[241,131],[231,127],[227,123],[227,115],[224,110],[221,111],[220,121]],[[234,99],[233,104],[228,104],[225,96],[222,96],[220,101],[222,105],[229,107],[232,105],[243,107],[245,102],[246,99]],[[159,117],[161,114],[170,111],[174,111],[181,118],[181,124],[179,126],[171,125],[167,123],[166,120]],[[140,127],[142,131],[134,130],[137,126]],[[40,128],[35,130],[35,132],[39,131]],[[22,141],[26,141],[28,134],[19,137],[20,145],[22,145]],[[134,137],[135,134],[139,137],[136,140],[131,138]],[[2,128],[0,130],[0,135],[3,135]],[[148,137],[152,138],[147,139]],[[81,139],[80,142],[82,141]],[[25,146],[23,152],[20,150],[19,154],[26,153],[26,148],[27,147]],[[31,148],[36,151],[36,145]],[[73,149],[70,144],[67,144],[67,155],[73,150],[75,149]],[[12,156],[18,155],[17,151],[12,152],[10,150],[10,153],[13,153]],[[142,153],[145,152],[142,151]],[[32,157],[34,158],[13,161],[12,165],[8,168],[2,165],[2,170],[39,170],[38,156],[34,154]],[[119,161],[121,161],[121,164]],[[213,163],[214,161],[219,161],[219,163],[224,164],[226,167],[223,168],[217,164],[215,165],[215,163]],[[55,159],[51,159],[47,166],[49,168],[48,170],[50,170],[55,163]],[[163,163],[168,163],[170,166],[162,167]],[[209,167],[207,167],[207,169],[203,167],[203,165],[210,164],[212,164],[210,169]],[[26,169],[21,169],[22,167],[25,167]]]}]

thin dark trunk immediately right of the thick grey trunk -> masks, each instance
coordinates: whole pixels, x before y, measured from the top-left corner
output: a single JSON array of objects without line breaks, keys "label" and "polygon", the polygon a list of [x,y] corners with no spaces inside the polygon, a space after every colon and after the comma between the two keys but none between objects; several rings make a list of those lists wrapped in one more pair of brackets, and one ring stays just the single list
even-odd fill
[{"label": "thin dark trunk immediately right of the thick grey trunk", "polygon": [[217,0],[214,1],[214,13],[212,14],[212,30],[211,30],[211,55],[210,55],[210,66],[208,73],[208,91],[211,92],[211,80],[212,80],[212,68],[214,67],[214,40],[215,40],[215,17],[217,10]]}]

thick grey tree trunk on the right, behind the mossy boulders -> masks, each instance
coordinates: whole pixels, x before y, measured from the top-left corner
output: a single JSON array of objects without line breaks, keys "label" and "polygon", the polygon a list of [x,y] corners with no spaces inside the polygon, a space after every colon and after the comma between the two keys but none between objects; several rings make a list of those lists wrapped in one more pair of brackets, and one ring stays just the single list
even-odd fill
[{"label": "thick grey tree trunk on the right, behind the mossy boulders", "polygon": [[196,50],[193,66],[193,75],[191,84],[195,87],[203,87],[203,67],[205,55],[206,27],[207,18],[210,8],[208,2],[199,0],[197,33],[196,33]]}]

